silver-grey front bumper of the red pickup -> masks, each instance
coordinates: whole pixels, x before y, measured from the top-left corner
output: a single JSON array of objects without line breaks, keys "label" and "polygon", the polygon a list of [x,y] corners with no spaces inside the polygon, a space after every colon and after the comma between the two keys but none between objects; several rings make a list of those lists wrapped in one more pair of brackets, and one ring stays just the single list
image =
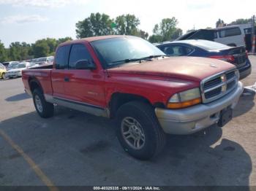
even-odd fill
[{"label": "silver-grey front bumper of the red pickup", "polygon": [[234,109],[244,87],[241,82],[235,90],[208,104],[199,104],[186,109],[156,108],[155,113],[162,129],[168,134],[191,134],[218,122],[222,109]]}]

